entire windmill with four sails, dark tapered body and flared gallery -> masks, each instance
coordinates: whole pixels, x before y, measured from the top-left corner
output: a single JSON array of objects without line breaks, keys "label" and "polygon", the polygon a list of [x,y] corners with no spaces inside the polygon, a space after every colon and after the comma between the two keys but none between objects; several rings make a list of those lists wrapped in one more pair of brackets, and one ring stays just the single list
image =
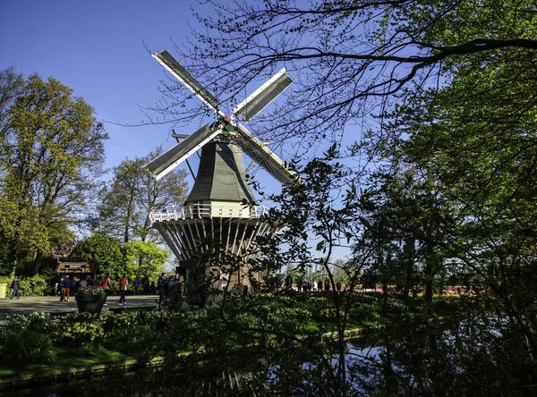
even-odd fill
[{"label": "entire windmill with four sails, dark tapered body and flared gallery", "polygon": [[[216,122],[204,125],[191,135],[174,134],[175,138],[183,140],[144,165],[156,179],[160,179],[183,161],[188,162],[188,157],[201,149],[198,173],[183,207],[151,212],[152,227],[158,230],[180,264],[192,258],[193,251],[209,249],[200,242],[207,238],[218,241],[227,253],[241,258],[255,246],[257,237],[269,237],[281,230],[281,227],[271,226],[261,219],[268,208],[255,205],[244,171],[243,152],[282,184],[293,183],[297,177],[267,145],[236,120],[250,121],[293,80],[286,69],[282,69],[236,106],[233,115],[229,116],[220,110],[221,103],[217,98],[167,50],[152,56],[217,114]],[[188,278],[189,268],[183,265],[183,270]],[[241,283],[249,285],[246,271],[242,266],[217,287],[227,283],[229,287]],[[255,277],[261,281],[259,274]]]}]

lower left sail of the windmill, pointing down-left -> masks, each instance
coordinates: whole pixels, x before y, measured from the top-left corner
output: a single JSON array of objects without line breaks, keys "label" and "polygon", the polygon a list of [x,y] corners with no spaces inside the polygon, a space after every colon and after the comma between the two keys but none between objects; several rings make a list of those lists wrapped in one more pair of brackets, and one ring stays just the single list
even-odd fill
[{"label": "lower left sail of the windmill, pointing down-left", "polygon": [[222,129],[210,127],[209,124],[206,124],[200,130],[183,139],[175,147],[170,148],[162,155],[144,165],[144,168],[147,168],[150,173],[153,173],[155,179],[158,181],[166,173],[169,173],[177,165],[180,165],[184,160],[192,156],[195,151],[209,142],[210,139],[215,138],[220,132],[222,132]]}]

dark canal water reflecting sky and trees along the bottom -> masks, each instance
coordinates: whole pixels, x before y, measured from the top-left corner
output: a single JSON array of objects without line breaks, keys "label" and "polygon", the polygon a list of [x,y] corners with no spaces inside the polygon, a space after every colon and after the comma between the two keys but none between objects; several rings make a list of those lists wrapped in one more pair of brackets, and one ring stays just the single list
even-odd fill
[{"label": "dark canal water reflecting sky and trees along the bottom", "polygon": [[160,368],[31,395],[534,395],[537,373],[524,346],[516,332],[490,320],[399,325],[344,344],[311,338],[169,357]]}]

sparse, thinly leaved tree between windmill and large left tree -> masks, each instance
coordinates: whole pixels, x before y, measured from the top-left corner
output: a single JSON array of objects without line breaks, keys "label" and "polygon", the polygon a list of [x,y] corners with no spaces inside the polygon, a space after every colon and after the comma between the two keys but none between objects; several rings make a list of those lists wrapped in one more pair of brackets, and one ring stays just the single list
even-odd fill
[{"label": "sparse, thinly leaved tree between windmill and large left tree", "polygon": [[157,241],[157,233],[150,229],[151,210],[182,205],[188,189],[184,170],[176,169],[157,181],[142,167],[162,152],[159,147],[148,156],[124,160],[114,168],[112,180],[100,193],[102,230],[124,242],[136,238]]}]

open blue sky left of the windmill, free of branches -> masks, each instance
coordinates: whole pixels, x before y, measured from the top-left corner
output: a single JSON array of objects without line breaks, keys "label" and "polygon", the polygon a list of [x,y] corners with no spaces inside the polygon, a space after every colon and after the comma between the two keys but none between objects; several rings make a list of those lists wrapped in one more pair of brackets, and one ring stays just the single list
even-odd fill
[{"label": "open blue sky left of the windmill, free of branches", "polygon": [[[107,167],[175,144],[169,126],[123,127],[144,120],[139,105],[154,105],[166,71],[146,48],[170,50],[190,38],[188,0],[0,0],[0,69],[53,76],[95,108],[110,136]],[[199,5],[197,5],[199,7]],[[210,11],[210,10],[208,10]],[[173,51],[172,51],[173,52]],[[202,81],[201,81],[202,82]],[[192,126],[192,131],[199,122]],[[194,160],[195,161],[195,160]],[[248,161],[246,161],[248,165]],[[185,165],[181,165],[185,167]],[[197,169],[197,164],[193,165]],[[185,168],[186,169],[186,168]],[[268,191],[278,183],[257,178]],[[266,175],[266,177],[265,177]],[[192,180],[189,181],[192,185]]]}]

